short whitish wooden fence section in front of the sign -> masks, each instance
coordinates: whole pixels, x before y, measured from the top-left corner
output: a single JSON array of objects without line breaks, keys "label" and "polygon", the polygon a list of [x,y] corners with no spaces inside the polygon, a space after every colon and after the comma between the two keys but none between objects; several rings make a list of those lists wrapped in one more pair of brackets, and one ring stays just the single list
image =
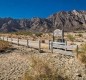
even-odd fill
[{"label": "short whitish wooden fence section in front of the sign", "polygon": [[78,55],[78,45],[68,45],[67,42],[53,42],[50,41],[50,50],[53,53],[54,49],[62,49],[65,51],[76,51],[74,55]]}]

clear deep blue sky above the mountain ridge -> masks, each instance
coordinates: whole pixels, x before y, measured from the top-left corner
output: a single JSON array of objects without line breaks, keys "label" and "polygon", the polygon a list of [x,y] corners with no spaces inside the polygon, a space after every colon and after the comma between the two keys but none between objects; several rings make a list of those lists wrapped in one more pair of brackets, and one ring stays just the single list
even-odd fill
[{"label": "clear deep blue sky above the mountain ridge", "polygon": [[48,17],[58,11],[86,10],[86,0],[0,0],[0,17]]}]

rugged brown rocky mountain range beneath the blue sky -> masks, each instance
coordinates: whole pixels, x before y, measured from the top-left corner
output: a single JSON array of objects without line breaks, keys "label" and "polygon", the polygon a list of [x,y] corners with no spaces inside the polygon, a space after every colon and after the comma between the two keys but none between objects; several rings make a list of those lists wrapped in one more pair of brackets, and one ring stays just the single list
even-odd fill
[{"label": "rugged brown rocky mountain range beneath the blue sky", "polygon": [[86,30],[86,11],[61,11],[48,18],[0,18],[0,32],[19,30],[51,32],[57,28],[64,28],[65,31]]}]

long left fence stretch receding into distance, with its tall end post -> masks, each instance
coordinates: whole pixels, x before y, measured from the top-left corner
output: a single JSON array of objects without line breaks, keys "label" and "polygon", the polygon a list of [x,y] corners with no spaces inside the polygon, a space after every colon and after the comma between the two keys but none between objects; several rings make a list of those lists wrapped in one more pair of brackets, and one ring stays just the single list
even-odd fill
[{"label": "long left fence stretch receding into distance, with its tall end post", "polygon": [[31,45],[31,44],[34,44],[34,43],[30,43],[30,41],[28,39],[24,39],[24,40],[21,40],[19,38],[9,38],[9,37],[0,37],[1,40],[4,40],[4,41],[8,41],[8,42],[11,42],[11,43],[15,43],[17,44],[18,46],[19,45],[24,45],[24,46],[27,46],[27,47],[33,47],[33,48],[38,48],[39,52],[41,52],[41,41],[39,40],[38,43],[36,44],[37,47],[34,47],[35,45]]}]

